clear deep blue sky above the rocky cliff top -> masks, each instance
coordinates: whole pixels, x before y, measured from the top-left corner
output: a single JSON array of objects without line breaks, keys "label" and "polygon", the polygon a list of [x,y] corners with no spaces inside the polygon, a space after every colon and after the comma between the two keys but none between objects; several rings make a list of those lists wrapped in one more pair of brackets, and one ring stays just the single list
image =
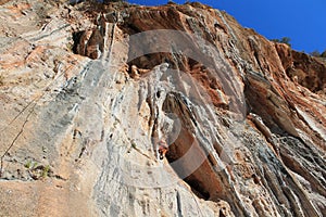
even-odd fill
[{"label": "clear deep blue sky above the rocky cliff top", "polygon": [[[158,5],[167,0],[127,0]],[[185,3],[185,0],[174,0]],[[268,39],[289,37],[298,51],[326,50],[326,0],[200,0],[231,14],[242,26]]]}]

